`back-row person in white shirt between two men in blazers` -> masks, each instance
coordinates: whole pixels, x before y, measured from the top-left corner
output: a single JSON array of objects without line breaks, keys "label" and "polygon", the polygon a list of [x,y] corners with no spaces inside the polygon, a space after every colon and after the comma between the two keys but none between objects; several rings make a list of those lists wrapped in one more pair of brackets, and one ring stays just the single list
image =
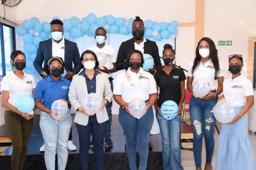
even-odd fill
[{"label": "back-row person in white shirt between two men in blazers", "polygon": [[[96,39],[97,43],[96,45],[91,46],[88,48],[89,50],[92,50],[94,53],[97,52],[104,52],[106,56],[108,57],[108,60],[103,68],[98,68],[98,70],[107,73],[109,77],[109,82],[111,84],[111,89],[113,92],[113,78],[112,78],[112,73],[117,71],[115,68],[115,62],[117,61],[117,52],[116,50],[108,45],[105,44],[105,40],[107,39],[106,36],[106,30],[102,27],[99,27],[95,31],[95,36],[94,39]],[[113,142],[110,138],[110,133],[111,133],[111,124],[112,124],[112,102],[106,105],[106,110],[109,115],[109,120],[106,124],[106,131],[105,131],[105,145],[106,147],[113,147]],[[93,147],[93,141],[90,142],[90,147]]]}]

